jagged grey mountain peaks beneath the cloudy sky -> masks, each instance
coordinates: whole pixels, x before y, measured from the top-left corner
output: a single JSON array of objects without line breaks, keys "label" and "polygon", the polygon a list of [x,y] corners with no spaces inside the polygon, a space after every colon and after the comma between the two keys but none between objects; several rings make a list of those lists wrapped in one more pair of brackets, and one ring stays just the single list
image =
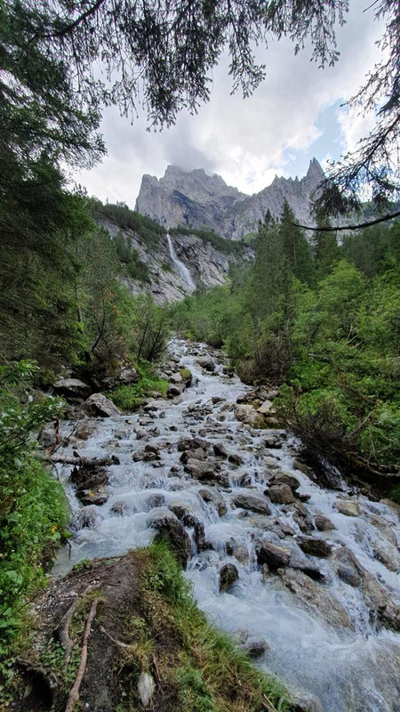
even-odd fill
[{"label": "jagged grey mountain peaks beneath the cloudy sky", "polygon": [[207,175],[202,168],[187,173],[168,166],[160,180],[143,176],[136,210],[166,228],[207,228],[222,237],[240,239],[257,231],[268,210],[278,218],[285,200],[300,222],[312,224],[310,199],[323,179],[324,172],[313,158],[301,180],[276,176],[268,188],[247,196],[228,186],[220,175]]}]

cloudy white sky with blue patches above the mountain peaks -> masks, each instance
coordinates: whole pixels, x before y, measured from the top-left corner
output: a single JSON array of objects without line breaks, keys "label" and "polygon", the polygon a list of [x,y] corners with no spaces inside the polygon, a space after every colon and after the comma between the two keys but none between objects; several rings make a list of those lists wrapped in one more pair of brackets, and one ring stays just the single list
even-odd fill
[{"label": "cloudy white sky with blue patches above the mountain peaks", "polygon": [[365,10],[370,4],[350,0],[348,21],[337,33],[340,60],[334,68],[318,69],[309,61],[309,50],[294,57],[288,40],[271,41],[268,50],[259,51],[267,78],[250,99],[240,92],[230,96],[224,59],[213,72],[211,101],[196,116],[182,113],[170,129],[148,132],[145,117],[131,125],[117,109],[107,109],[101,131],[108,156],[90,172],[76,174],[75,181],[90,195],[134,207],[141,176],[159,178],[168,164],[204,168],[253,193],[276,174],[305,174],[310,158],[323,166],[339,158],[372,126],[372,117],[356,116],[342,106],[380,60],[376,42],[382,25],[373,20],[373,8]]}]

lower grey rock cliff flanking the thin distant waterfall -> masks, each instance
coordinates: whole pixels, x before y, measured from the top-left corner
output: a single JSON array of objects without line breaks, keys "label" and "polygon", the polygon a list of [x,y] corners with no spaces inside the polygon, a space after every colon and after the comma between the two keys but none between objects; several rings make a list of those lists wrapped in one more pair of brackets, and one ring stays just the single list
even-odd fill
[{"label": "lower grey rock cliff flanking the thin distant waterfall", "polygon": [[[121,231],[118,225],[108,220],[101,220],[101,224],[112,238]],[[132,240],[132,247],[137,250],[140,260],[148,265],[148,285],[129,279],[129,287],[133,294],[148,289],[158,304],[177,302],[194,291],[190,282],[182,276],[177,261],[188,269],[195,287],[210,288],[225,282],[230,263],[242,264],[252,259],[252,250],[249,248],[244,248],[240,254],[224,252],[192,234],[173,235],[174,259],[166,234],[159,237],[156,245],[148,245],[134,231],[122,232],[125,239]]]}]

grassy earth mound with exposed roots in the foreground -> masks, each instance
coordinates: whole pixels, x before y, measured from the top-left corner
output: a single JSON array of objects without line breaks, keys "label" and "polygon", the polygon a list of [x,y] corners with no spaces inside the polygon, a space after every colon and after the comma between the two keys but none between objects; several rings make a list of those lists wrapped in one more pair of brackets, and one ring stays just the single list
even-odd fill
[{"label": "grassy earth mound with exposed roots in the foreground", "polygon": [[[54,630],[65,626],[65,602],[71,600],[75,604],[68,619],[71,647],[66,663]],[[23,704],[24,670],[29,668],[39,671],[37,687],[41,680],[43,686],[46,679],[56,681],[52,704],[66,708],[91,611],[84,676],[84,699],[91,708],[101,699],[117,712],[150,706],[158,712],[292,709],[276,676],[260,673],[198,610],[190,584],[163,543],[111,560],[81,562],[52,583],[47,601],[38,606],[45,624],[34,633],[34,644],[27,640],[21,648],[26,664],[12,681],[12,712]]]}]

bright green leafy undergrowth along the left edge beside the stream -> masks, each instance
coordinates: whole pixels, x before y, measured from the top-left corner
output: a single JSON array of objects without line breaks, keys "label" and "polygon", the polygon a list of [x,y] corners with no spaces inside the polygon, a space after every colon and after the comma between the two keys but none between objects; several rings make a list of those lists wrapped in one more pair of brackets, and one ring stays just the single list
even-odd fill
[{"label": "bright green leafy undergrowth along the left edge beside the stream", "polygon": [[61,484],[36,457],[37,431],[60,415],[62,403],[32,399],[35,370],[29,361],[0,368],[1,656],[18,633],[29,596],[44,584],[44,570],[68,523]]}]

